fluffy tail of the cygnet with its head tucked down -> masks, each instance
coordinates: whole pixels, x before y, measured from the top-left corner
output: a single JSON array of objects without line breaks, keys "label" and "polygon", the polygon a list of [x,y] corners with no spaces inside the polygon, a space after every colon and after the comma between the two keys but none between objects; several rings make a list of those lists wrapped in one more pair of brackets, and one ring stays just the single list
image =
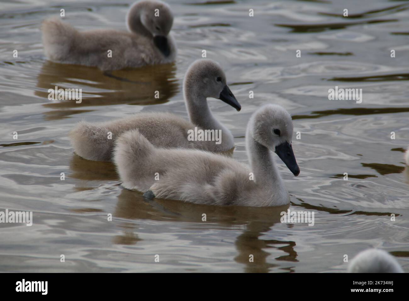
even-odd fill
[{"label": "fluffy tail of the cygnet with its head tucked down", "polygon": [[62,61],[74,48],[78,32],[58,18],[44,20],[41,25],[43,45],[47,59]]}]

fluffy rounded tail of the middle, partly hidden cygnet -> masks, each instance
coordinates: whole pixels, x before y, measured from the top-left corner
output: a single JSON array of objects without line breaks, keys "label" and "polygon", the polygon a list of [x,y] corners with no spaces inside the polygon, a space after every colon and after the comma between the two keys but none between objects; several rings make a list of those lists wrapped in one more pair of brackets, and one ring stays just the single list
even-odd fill
[{"label": "fluffy rounded tail of the middle, partly hidden cygnet", "polygon": [[111,161],[115,133],[104,127],[81,121],[68,136],[77,155],[92,161]]}]

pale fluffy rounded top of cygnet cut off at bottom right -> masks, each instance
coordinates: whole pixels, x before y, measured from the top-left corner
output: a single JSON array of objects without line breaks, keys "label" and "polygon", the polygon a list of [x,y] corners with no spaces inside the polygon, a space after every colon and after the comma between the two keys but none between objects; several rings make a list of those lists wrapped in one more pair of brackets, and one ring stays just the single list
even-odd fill
[{"label": "pale fluffy rounded top of cygnet cut off at bottom right", "polygon": [[358,253],[348,265],[348,273],[404,273],[398,261],[388,252],[368,249]]}]

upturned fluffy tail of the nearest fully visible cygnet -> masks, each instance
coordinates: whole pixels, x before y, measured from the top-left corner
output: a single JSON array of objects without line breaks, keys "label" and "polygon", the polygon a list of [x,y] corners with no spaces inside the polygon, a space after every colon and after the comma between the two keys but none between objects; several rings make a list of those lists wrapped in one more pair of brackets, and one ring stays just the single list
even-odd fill
[{"label": "upturned fluffy tail of the nearest fully visible cygnet", "polygon": [[[128,189],[146,191],[152,185],[150,174],[152,155],[155,147],[137,129],[126,131],[118,137],[113,152],[113,162],[122,181]],[[152,163],[152,164],[151,164]]]}]

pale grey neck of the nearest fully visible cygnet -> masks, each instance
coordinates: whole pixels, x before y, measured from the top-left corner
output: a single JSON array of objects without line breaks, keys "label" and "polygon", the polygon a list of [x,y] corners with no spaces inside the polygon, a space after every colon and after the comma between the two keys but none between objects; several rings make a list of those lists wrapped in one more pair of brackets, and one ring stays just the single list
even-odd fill
[{"label": "pale grey neck of the nearest fully visible cygnet", "polygon": [[270,187],[275,191],[281,191],[282,188],[285,190],[270,150],[254,140],[249,128],[247,128],[246,146],[249,154],[250,171],[254,173],[256,184]]}]

